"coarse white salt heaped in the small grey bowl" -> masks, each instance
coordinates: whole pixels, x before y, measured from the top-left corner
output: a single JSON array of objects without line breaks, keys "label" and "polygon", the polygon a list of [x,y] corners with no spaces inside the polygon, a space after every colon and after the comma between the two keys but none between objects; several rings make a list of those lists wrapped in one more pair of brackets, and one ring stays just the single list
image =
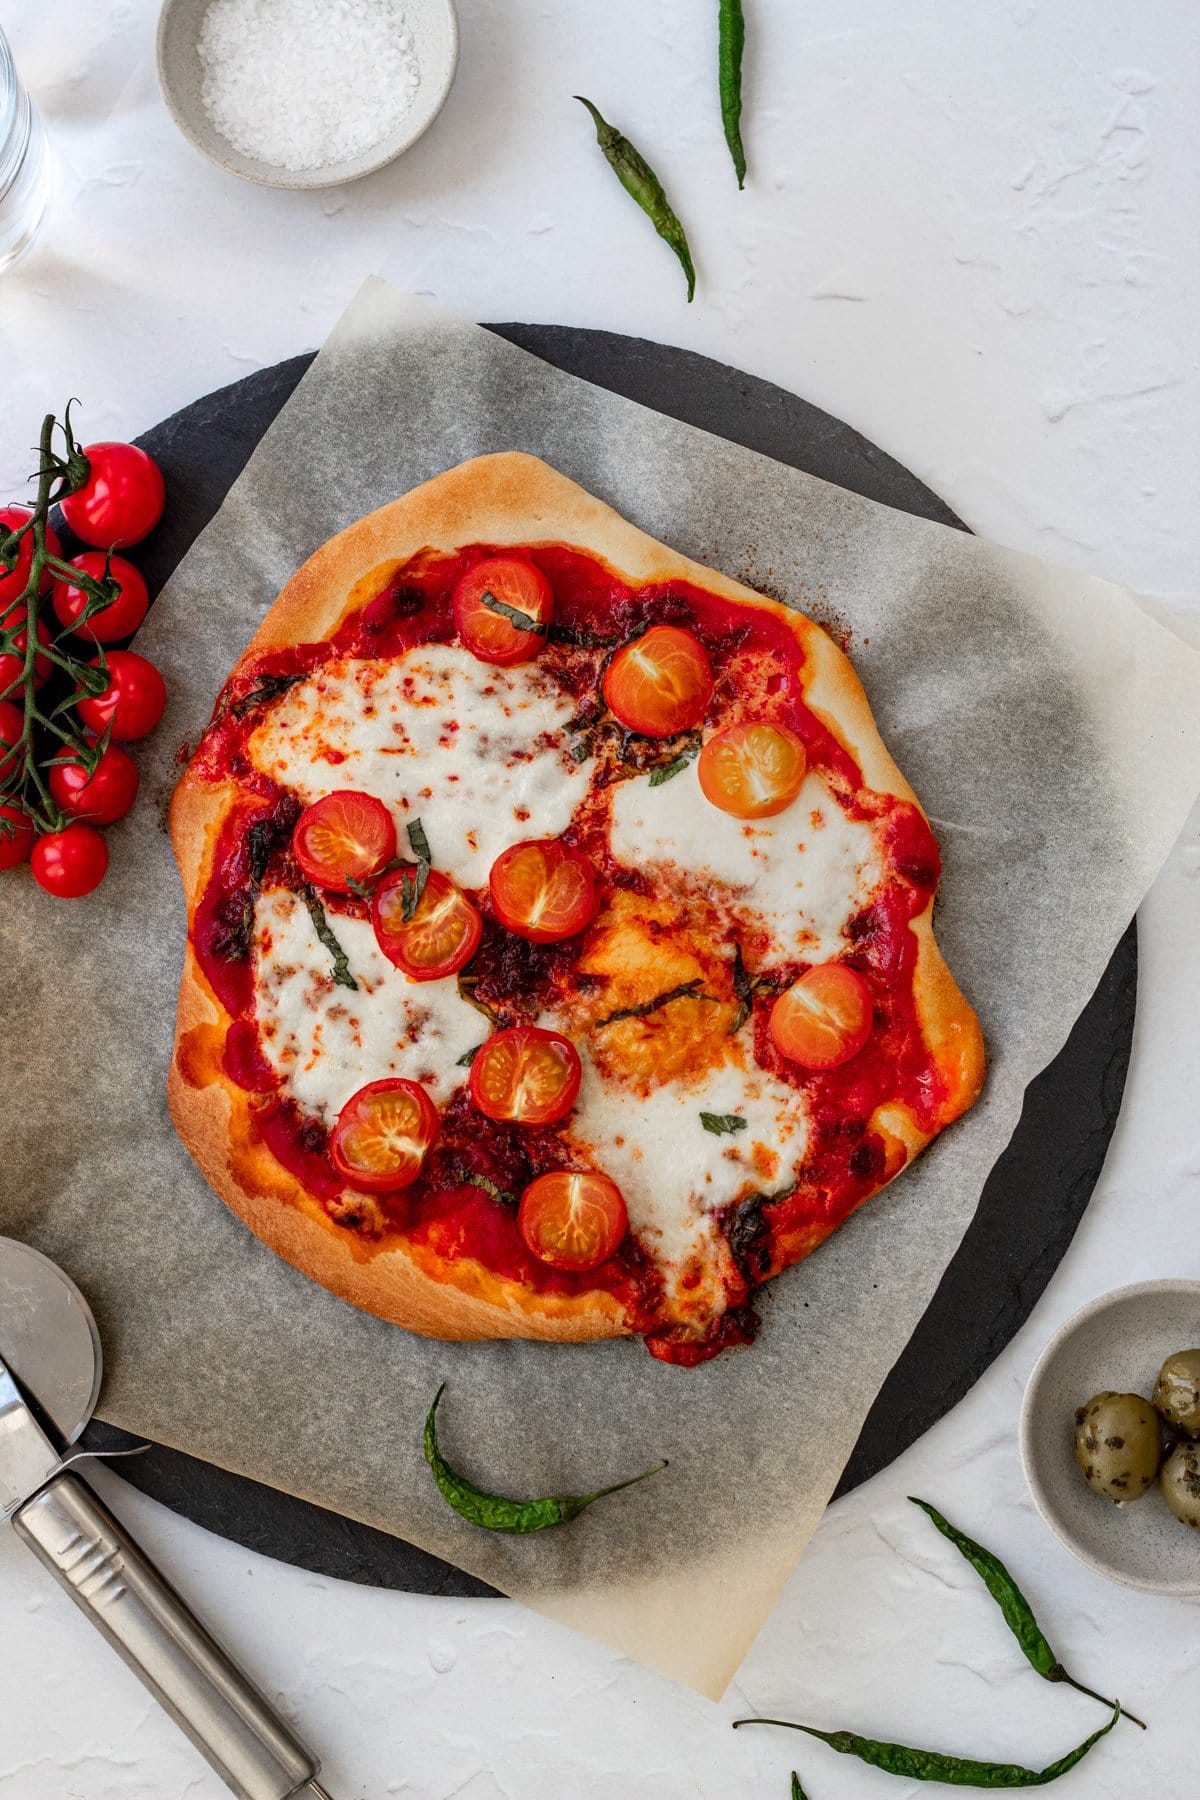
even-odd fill
[{"label": "coarse white salt heaped in the small grey bowl", "polygon": [[214,128],[295,173],[372,149],[421,81],[399,0],[212,0],[196,49]]}]

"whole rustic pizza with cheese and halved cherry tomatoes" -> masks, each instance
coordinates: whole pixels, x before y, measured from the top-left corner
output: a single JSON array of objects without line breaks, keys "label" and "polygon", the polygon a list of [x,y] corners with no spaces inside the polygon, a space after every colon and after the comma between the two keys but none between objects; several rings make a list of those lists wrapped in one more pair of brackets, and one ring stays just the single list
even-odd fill
[{"label": "whole rustic pizza with cheese and halved cherry tomatoes", "polygon": [[304,563],[171,835],[184,1143],[425,1336],[747,1343],[982,1082],[842,650],[529,455]]}]

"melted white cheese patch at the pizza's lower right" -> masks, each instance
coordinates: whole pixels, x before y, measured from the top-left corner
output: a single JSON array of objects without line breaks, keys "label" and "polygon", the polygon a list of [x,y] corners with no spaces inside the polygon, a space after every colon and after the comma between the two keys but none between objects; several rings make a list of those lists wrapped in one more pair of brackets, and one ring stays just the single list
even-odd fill
[{"label": "melted white cheese patch at the pizza's lower right", "polygon": [[[747,1125],[716,1136],[702,1112],[738,1114]],[[585,1051],[570,1136],[617,1183],[633,1235],[675,1291],[689,1262],[716,1273],[720,1208],[792,1184],[808,1116],[802,1094],[763,1069],[727,1062],[698,1082],[642,1094],[603,1080]]]}]

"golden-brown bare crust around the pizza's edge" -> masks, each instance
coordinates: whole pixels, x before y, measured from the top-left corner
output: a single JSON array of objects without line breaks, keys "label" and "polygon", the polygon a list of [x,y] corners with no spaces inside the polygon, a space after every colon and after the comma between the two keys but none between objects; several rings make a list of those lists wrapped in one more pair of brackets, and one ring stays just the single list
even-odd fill
[{"label": "golden-brown bare crust around the pizza's edge", "polygon": [[[324,544],[282,589],[230,680],[243,664],[268,650],[331,637],[347,612],[385,585],[389,565],[403,563],[421,549],[453,553],[464,544],[569,544],[606,562],[630,585],[693,581],[739,605],[774,612],[804,648],[808,706],[855,758],[865,783],[876,792],[916,803],[878,734],[855,670],[820,626],[718,571],[678,556],[549,464],[520,452],[462,463]],[[175,1127],[203,1175],[255,1237],[297,1269],[353,1305],[428,1337],[579,1343],[635,1330],[603,1289],[576,1296],[538,1294],[470,1258],[434,1260],[405,1238],[371,1247],[329,1219],[257,1141],[250,1096],[225,1075],[221,1064],[228,1015],[191,943],[196,904],[236,797],[234,783],[210,781],[193,767],[171,799],[171,841],[187,898],[189,941],[167,1100]],[[964,1112],[979,1093],[982,1033],[934,941],[932,900],[912,922],[912,931],[919,940],[914,974],[918,1013],[948,1091],[941,1129]],[[932,1136],[898,1103],[880,1107],[873,1127],[889,1147],[885,1181]],[[802,1242],[786,1246],[786,1260],[808,1255],[826,1235],[822,1226],[806,1226]]]}]

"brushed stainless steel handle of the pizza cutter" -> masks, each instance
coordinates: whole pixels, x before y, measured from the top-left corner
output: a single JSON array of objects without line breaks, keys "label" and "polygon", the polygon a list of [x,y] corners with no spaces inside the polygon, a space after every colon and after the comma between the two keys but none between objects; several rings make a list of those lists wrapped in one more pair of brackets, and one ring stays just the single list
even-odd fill
[{"label": "brushed stainless steel handle of the pizza cutter", "polygon": [[77,1476],[56,1476],[13,1525],[241,1800],[315,1782],[317,1757]]}]

